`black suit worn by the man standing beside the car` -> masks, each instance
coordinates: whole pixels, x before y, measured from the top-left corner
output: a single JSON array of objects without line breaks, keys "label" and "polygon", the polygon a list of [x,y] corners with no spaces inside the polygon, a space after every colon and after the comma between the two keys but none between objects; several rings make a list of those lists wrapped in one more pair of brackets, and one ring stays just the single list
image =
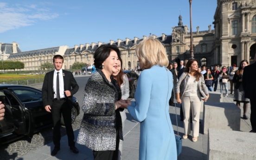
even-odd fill
[{"label": "black suit worn by the man standing beside the car", "polygon": [[[65,98],[63,100],[57,101],[54,100],[54,89],[53,89],[53,76],[54,70],[46,73],[45,80],[42,87],[42,98],[44,107],[50,105],[51,107],[51,115],[53,120],[53,143],[55,148],[60,148],[60,119],[61,114],[64,118],[64,123],[68,135],[69,146],[75,146],[74,142],[74,132],[71,125],[71,109],[73,107],[72,97],[75,93],[77,93],[79,86],[70,71],[62,70],[63,72],[63,80],[64,80],[64,90],[69,90],[71,96]],[[72,87],[72,89],[71,89]]]}]

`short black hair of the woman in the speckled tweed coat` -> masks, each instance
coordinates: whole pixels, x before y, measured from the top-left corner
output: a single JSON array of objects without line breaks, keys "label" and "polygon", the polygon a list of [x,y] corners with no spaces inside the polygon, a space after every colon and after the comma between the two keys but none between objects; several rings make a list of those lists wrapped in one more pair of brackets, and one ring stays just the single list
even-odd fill
[{"label": "short black hair of the woman in the speckled tweed coat", "polygon": [[115,45],[101,45],[94,53],[94,65],[98,69],[102,69],[102,63],[109,57],[110,52],[115,51],[120,58],[120,51]]}]

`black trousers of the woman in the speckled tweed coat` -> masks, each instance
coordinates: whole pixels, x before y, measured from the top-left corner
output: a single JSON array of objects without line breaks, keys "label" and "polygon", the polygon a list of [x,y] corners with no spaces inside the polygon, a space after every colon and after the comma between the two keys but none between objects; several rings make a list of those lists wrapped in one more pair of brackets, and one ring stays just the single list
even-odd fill
[{"label": "black trousers of the woman in the speckled tweed coat", "polygon": [[120,141],[119,129],[117,129],[115,151],[93,151],[94,160],[117,160],[119,141]]}]

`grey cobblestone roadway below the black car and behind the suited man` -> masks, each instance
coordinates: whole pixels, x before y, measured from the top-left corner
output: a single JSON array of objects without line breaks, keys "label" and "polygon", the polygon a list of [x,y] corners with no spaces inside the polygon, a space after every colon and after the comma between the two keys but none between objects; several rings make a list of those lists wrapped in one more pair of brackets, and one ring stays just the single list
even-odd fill
[{"label": "grey cobblestone roadway below the black car and behind the suited man", "polygon": [[[79,90],[75,94],[78,99],[80,108],[83,101],[83,90],[85,83],[87,83],[89,77],[76,77],[77,84],[79,85]],[[83,118],[83,111],[80,109],[80,115],[77,116],[75,122],[72,124],[73,130],[77,130],[80,127],[81,120]],[[66,135],[65,127],[61,127],[61,136]],[[0,146],[0,160],[14,160],[24,154],[27,154],[39,147],[42,147],[52,141],[52,128],[46,128],[33,135],[32,139],[28,137],[20,138],[16,141],[12,141]],[[68,145],[68,144],[67,144]]]}]

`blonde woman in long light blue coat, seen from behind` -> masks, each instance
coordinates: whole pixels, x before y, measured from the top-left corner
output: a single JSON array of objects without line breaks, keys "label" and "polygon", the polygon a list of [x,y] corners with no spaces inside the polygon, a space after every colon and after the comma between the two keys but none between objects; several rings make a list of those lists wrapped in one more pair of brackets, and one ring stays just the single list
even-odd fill
[{"label": "blonde woman in long light blue coat, seen from behind", "polygon": [[135,102],[120,104],[141,122],[140,160],[177,160],[176,141],[169,115],[173,74],[166,69],[168,58],[164,46],[146,38],[136,47],[143,71],[138,80]]}]

